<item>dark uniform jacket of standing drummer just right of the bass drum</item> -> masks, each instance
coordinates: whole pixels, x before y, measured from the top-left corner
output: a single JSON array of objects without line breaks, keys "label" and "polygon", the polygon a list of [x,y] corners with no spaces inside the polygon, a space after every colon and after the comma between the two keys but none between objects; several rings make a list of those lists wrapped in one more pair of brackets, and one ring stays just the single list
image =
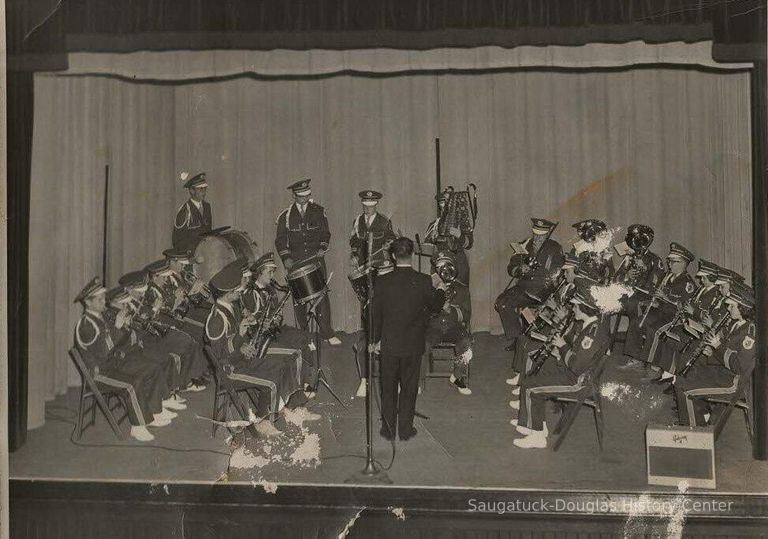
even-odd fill
[{"label": "dark uniform jacket of standing drummer just right of the bass drum", "polygon": [[293,262],[309,260],[320,249],[327,250],[330,240],[328,219],[319,204],[308,202],[302,217],[296,203],[293,203],[277,218],[275,248],[283,263],[287,258]]}]

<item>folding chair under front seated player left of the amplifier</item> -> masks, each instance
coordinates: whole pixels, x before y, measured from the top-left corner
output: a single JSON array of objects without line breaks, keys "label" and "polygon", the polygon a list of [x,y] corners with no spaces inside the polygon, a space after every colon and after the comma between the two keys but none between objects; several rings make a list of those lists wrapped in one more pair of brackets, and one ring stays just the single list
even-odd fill
[{"label": "folding chair under front seated player left of the amplifier", "polygon": [[597,357],[598,359],[593,363],[592,367],[585,372],[583,387],[581,389],[576,391],[571,397],[552,398],[554,402],[563,407],[563,413],[560,416],[560,420],[552,431],[552,434],[558,435],[557,440],[555,440],[555,443],[552,446],[552,451],[560,449],[560,446],[565,441],[568,431],[576,420],[576,416],[583,406],[592,409],[592,415],[595,421],[595,431],[597,433],[597,444],[600,447],[600,451],[603,450],[604,420],[600,386],[603,371],[605,370],[605,365],[609,357],[609,346],[610,344],[605,345],[596,352],[594,357]]}]

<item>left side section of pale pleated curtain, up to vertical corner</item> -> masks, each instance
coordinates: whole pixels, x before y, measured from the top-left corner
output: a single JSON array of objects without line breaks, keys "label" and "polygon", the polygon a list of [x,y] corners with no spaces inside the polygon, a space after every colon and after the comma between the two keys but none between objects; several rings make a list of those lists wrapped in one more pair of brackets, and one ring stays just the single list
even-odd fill
[{"label": "left side section of pale pleated curtain, up to vertical corner", "polygon": [[[102,276],[105,166],[110,165],[107,284],[158,258],[173,212],[173,89],[109,80],[35,81],[29,234],[29,428],[45,399],[79,385],[67,351]],[[167,228],[167,227],[166,227]],[[120,245],[119,249],[115,247]]]}]

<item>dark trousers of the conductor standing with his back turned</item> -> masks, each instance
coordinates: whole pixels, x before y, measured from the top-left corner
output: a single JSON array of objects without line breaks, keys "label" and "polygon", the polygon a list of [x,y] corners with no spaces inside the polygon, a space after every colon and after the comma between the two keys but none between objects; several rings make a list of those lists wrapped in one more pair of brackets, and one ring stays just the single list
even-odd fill
[{"label": "dark trousers of the conductor standing with his back turned", "polygon": [[407,436],[413,429],[420,366],[421,354],[381,358],[381,416],[384,429],[392,436],[395,425],[400,436]]}]

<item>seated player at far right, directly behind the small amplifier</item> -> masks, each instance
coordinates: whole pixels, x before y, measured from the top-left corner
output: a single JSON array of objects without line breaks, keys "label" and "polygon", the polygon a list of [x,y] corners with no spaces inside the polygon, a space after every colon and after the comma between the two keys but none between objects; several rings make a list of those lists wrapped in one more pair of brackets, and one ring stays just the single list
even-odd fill
[{"label": "seated player at far right, directly behind the small amplifier", "polygon": [[[742,283],[731,285],[725,300],[728,323],[710,332],[685,376],[675,381],[680,425],[705,426],[711,410],[706,397],[728,399],[734,395],[751,398],[751,377],[755,368],[754,292]],[[704,361],[707,359],[708,361]]]}]

